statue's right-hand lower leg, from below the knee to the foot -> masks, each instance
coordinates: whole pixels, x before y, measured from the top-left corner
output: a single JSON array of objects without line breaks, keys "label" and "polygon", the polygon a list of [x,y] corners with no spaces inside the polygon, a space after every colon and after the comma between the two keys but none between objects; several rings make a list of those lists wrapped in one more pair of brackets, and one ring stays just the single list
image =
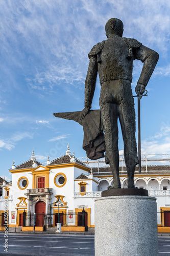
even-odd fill
[{"label": "statue's right-hand lower leg, from below the knee to the foot", "polygon": [[128,175],[128,188],[135,188],[134,173],[136,168],[135,157],[125,155],[126,169]]}]

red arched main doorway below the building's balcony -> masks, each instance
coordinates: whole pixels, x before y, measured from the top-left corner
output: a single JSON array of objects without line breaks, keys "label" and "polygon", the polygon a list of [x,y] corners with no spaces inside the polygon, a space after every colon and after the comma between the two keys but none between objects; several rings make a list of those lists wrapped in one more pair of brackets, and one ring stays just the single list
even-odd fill
[{"label": "red arched main doorway below the building's balcony", "polygon": [[35,205],[35,226],[42,227],[44,225],[45,218],[45,203],[38,201]]}]

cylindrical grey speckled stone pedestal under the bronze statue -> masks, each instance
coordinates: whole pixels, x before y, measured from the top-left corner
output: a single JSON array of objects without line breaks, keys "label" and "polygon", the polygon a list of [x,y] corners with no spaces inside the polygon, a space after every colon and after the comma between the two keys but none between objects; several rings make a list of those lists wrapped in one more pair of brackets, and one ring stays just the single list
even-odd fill
[{"label": "cylindrical grey speckled stone pedestal under the bronze statue", "polygon": [[158,256],[156,198],[95,199],[95,256]]}]

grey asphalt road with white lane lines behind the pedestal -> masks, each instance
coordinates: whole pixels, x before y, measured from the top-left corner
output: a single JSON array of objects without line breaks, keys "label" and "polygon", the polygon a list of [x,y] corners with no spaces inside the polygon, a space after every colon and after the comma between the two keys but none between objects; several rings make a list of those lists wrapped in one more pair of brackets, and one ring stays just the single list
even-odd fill
[{"label": "grey asphalt road with white lane lines behind the pedestal", "polygon": [[[94,236],[89,235],[8,233],[8,252],[4,242],[4,233],[0,233],[0,255],[94,256]],[[158,250],[159,256],[170,256],[170,237],[158,237]]]}]

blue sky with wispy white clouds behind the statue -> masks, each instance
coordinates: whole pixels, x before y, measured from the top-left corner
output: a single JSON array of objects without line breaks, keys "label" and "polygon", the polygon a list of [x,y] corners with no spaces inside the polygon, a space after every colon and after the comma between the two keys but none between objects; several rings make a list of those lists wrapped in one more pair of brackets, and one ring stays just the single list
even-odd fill
[{"label": "blue sky with wispy white clouds behind the statue", "polygon": [[[64,155],[67,144],[85,157],[82,126],[53,113],[84,108],[88,52],[106,39],[111,17],[132,37],[159,53],[159,61],[141,100],[142,154],[170,154],[169,28],[170,2],[164,0],[23,0],[0,2],[0,176],[30,159]],[[132,90],[142,63],[134,61]],[[92,109],[99,109],[100,83]],[[137,106],[137,99],[135,98]],[[119,150],[123,141],[119,133]]]}]

